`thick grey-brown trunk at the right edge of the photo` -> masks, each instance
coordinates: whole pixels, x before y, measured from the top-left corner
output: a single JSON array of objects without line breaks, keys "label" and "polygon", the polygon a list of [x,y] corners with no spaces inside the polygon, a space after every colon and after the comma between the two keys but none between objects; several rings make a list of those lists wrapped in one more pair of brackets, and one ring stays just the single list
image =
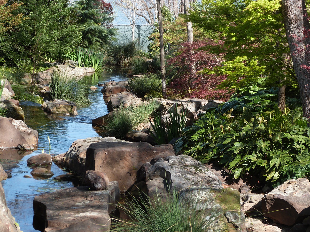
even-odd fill
[{"label": "thick grey-brown trunk at the right edge of the photo", "polygon": [[310,73],[302,65],[308,64],[307,45],[310,39],[304,37],[303,30],[309,30],[306,4],[304,0],[282,0],[282,14],[286,37],[290,47],[292,62],[299,84],[303,116],[310,118]]}]

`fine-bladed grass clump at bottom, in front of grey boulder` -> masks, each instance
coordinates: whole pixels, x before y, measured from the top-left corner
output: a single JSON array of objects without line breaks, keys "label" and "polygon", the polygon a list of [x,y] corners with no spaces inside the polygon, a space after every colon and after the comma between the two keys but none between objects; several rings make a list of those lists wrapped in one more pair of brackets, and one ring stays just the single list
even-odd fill
[{"label": "fine-bladed grass clump at bottom, in front of grey boulder", "polygon": [[112,218],[116,222],[110,231],[207,232],[225,231],[229,227],[229,223],[221,223],[224,210],[214,207],[211,199],[206,202],[205,208],[210,208],[208,213],[196,210],[198,204],[193,203],[191,207],[188,202],[181,202],[176,190],[173,195],[166,195],[166,200],[158,193],[152,199],[148,196],[133,198],[127,205],[118,206],[132,220]]}]

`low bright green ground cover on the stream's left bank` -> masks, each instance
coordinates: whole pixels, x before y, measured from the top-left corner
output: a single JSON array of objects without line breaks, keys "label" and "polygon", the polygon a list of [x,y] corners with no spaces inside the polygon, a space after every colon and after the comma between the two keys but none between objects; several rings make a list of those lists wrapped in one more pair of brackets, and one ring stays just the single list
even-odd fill
[{"label": "low bright green ground cover on the stream's left bank", "polygon": [[15,93],[14,99],[17,99],[19,101],[24,100],[24,101],[32,101],[34,103],[42,104],[43,103],[43,98],[35,95],[33,90],[33,87],[27,87],[24,85],[16,84],[12,85],[12,89]]}]

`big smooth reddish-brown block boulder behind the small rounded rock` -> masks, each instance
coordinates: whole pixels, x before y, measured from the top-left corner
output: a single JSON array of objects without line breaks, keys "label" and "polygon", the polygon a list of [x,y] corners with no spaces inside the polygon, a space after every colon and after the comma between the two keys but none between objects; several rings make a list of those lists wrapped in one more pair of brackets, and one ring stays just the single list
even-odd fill
[{"label": "big smooth reddish-brown block boulder behind the small rounded rock", "polygon": [[86,151],[85,170],[105,172],[110,181],[118,181],[121,191],[134,182],[137,170],[157,155],[175,155],[173,146],[152,146],[146,142],[98,142]]}]

